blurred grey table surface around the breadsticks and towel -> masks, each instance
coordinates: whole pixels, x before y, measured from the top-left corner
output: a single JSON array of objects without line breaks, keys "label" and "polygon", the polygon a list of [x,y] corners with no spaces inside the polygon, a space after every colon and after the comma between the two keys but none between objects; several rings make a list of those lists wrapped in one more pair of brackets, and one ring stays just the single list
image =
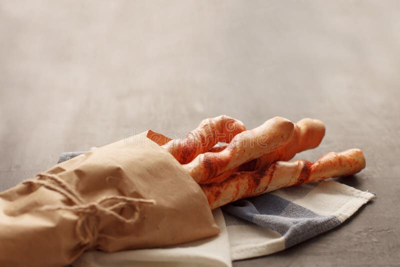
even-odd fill
[{"label": "blurred grey table surface around the breadsticks and towel", "polygon": [[399,1],[0,1],[0,191],[87,150],[227,114],[326,124],[297,159],[360,148],[339,181],[377,194],[256,266],[400,262]]}]

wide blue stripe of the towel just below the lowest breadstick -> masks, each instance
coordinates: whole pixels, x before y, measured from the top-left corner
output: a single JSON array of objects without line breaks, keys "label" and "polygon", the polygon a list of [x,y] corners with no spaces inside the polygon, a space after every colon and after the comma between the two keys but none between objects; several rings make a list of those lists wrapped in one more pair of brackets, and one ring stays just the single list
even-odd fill
[{"label": "wide blue stripe of the towel just below the lowest breadstick", "polygon": [[[306,194],[315,186],[303,186],[301,194]],[[226,226],[254,224],[276,231],[284,237],[286,248],[341,224],[335,216],[318,215],[273,194],[233,202],[222,207],[222,212]]]}]

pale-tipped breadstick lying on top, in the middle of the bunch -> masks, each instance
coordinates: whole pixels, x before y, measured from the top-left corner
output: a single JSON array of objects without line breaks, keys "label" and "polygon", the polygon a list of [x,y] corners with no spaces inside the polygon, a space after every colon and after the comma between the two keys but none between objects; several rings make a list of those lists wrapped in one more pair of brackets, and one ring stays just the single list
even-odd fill
[{"label": "pale-tipped breadstick lying on top, in the middle of the bunch", "polygon": [[257,128],[237,134],[224,150],[200,154],[182,167],[197,183],[205,182],[285,145],[293,128],[291,121],[274,117]]}]

